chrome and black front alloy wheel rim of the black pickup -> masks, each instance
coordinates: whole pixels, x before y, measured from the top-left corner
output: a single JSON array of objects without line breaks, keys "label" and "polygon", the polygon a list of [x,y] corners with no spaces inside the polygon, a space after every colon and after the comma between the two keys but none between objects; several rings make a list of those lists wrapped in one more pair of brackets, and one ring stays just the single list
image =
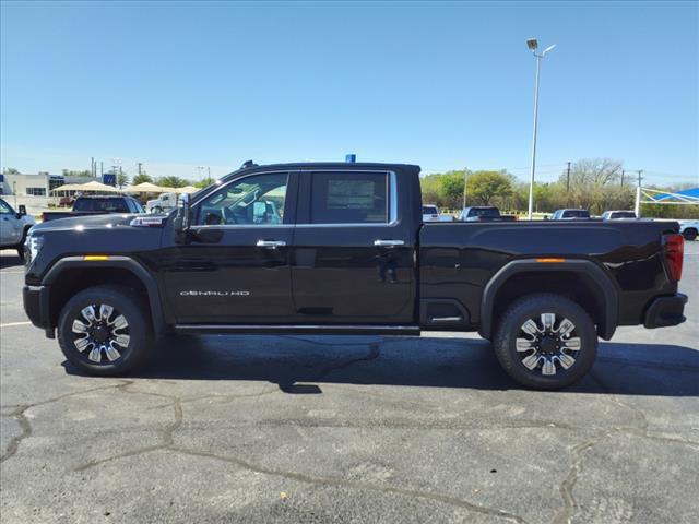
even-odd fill
[{"label": "chrome and black front alloy wheel rim of the black pickup", "polygon": [[95,364],[102,364],[103,355],[114,362],[129,347],[129,323],[108,303],[83,308],[71,331],[75,334],[75,349],[88,352],[87,359]]}]

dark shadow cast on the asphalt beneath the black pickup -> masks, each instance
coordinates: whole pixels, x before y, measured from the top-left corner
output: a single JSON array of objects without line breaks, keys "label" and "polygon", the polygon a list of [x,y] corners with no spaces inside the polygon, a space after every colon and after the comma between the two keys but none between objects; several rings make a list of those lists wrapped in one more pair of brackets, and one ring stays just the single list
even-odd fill
[{"label": "dark shadow cast on the asphalt beneath the black pickup", "polygon": [[[487,341],[441,336],[166,337],[131,378],[266,381],[289,394],[322,393],[322,383],[521,389]],[[592,372],[568,391],[699,396],[699,350],[602,343]]]}]

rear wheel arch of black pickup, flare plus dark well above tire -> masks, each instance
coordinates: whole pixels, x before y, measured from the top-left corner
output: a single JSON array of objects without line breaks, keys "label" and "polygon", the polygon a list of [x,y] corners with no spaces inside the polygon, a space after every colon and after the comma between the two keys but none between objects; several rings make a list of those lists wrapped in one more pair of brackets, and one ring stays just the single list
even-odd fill
[{"label": "rear wheel arch of black pickup, flare plus dark well above tire", "polygon": [[[509,284],[513,285],[518,281],[521,282],[528,275],[536,275],[541,281],[543,277],[547,277],[547,274],[556,275],[555,278],[550,279],[552,283],[561,282],[568,275],[571,275],[579,284],[584,286],[588,294],[582,301],[588,302],[588,307],[584,308],[588,312],[596,313],[591,314],[591,317],[596,321],[597,334],[604,340],[609,340],[614,335],[618,318],[618,290],[617,285],[602,267],[590,260],[572,259],[555,262],[547,260],[544,262],[537,261],[537,259],[520,259],[505,264],[486,284],[481,299],[478,329],[481,336],[484,338],[493,337],[497,324],[497,298],[498,295],[507,291]],[[525,293],[520,293],[518,296],[542,290],[531,288]],[[545,290],[556,293],[552,289]],[[570,293],[561,293],[561,295],[568,295],[573,300],[579,298],[574,294],[571,296]],[[577,301],[580,302],[581,300]],[[590,311],[591,309],[593,311]],[[596,311],[596,309],[602,309],[602,311]]]}]

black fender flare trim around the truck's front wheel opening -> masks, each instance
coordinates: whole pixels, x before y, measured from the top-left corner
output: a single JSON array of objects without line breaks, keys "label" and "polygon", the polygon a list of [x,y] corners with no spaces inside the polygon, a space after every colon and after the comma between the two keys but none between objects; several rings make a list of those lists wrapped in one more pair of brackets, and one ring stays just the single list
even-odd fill
[{"label": "black fender flare trim around the truck's front wheel opening", "polygon": [[87,261],[83,257],[64,257],[57,261],[42,279],[42,285],[50,286],[60,274],[69,269],[108,267],[127,270],[132,273],[145,287],[147,293],[153,331],[162,333],[164,329],[163,307],[159,300],[158,287],[153,275],[143,265],[130,257],[109,255],[105,261]]}]

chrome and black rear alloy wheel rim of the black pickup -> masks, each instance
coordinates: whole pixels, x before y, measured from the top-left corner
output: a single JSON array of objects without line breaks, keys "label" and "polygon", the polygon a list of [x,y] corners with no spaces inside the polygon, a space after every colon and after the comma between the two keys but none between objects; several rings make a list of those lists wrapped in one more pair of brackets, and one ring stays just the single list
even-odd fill
[{"label": "chrome and black rear alloy wheel rim of the black pickup", "polygon": [[529,319],[520,327],[517,352],[522,365],[530,371],[556,374],[558,369],[569,369],[576,364],[582,348],[576,324],[564,318],[557,322],[556,313],[542,313],[538,319]]}]

